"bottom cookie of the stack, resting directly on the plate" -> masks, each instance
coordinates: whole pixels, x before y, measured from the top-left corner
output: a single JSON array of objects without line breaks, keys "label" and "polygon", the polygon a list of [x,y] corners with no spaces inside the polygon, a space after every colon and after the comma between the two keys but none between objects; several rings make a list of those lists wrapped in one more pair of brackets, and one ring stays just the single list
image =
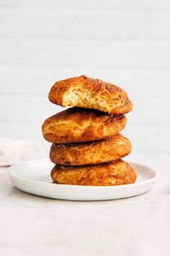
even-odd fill
[{"label": "bottom cookie of the stack, resting directly on the plate", "polygon": [[122,160],[94,166],[59,166],[51,171],[54,182],[85,186],[115,186],[135,182],[136,173]]}]

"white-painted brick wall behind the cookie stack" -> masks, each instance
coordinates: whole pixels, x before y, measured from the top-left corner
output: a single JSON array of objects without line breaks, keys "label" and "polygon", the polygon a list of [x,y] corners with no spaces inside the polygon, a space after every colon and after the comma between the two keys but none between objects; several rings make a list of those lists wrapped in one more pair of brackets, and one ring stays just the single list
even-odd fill
[{"label": "white-painted brick wall behind the cookie stack", "polygon": [[170,1],[0,0],[0,135],[37,140],[56,80],[86,74],[134,103],[134,153],[170,153]]}]

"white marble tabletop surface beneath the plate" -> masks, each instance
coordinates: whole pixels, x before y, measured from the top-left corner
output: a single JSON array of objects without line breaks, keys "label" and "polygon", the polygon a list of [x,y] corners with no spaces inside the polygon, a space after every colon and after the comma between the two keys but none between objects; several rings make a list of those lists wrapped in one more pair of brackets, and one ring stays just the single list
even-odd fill
[{"label": "white marble tabletop surface beneath the plate", "polygon": [[135,159],[158,168],[153,189],[100,202],[28,195],[13,187],[7,168],[0,168],[0,255],[169,256],[168,155]]}]

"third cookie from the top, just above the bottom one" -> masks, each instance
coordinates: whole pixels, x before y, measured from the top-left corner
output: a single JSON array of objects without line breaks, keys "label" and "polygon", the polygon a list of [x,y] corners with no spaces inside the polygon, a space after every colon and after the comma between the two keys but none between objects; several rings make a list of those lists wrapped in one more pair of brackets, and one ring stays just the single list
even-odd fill
[{"label": "third cookie from the top, just above the bottom one", "polygon": [[105,140],[53,144],[50,160],[63,166],[82,166],[116,161],[131,152],[130,140],[118,134]]}]

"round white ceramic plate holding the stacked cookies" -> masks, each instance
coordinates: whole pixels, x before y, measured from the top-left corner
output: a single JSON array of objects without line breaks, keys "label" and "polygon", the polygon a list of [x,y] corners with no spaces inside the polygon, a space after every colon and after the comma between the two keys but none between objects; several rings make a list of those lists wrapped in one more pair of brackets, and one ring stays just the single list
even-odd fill
[{"label": "round white ceramic plate holding the stacked cookies", "polygon": [[9,176],[18,189],[33,195],[61,200],[112,200],[140,195],[151,189],[158,174],[138,163],[130,163],[138,175],[134,184],[93,187],[54,184],[50,178],[53,163],[47,159],[15,163]]}]

